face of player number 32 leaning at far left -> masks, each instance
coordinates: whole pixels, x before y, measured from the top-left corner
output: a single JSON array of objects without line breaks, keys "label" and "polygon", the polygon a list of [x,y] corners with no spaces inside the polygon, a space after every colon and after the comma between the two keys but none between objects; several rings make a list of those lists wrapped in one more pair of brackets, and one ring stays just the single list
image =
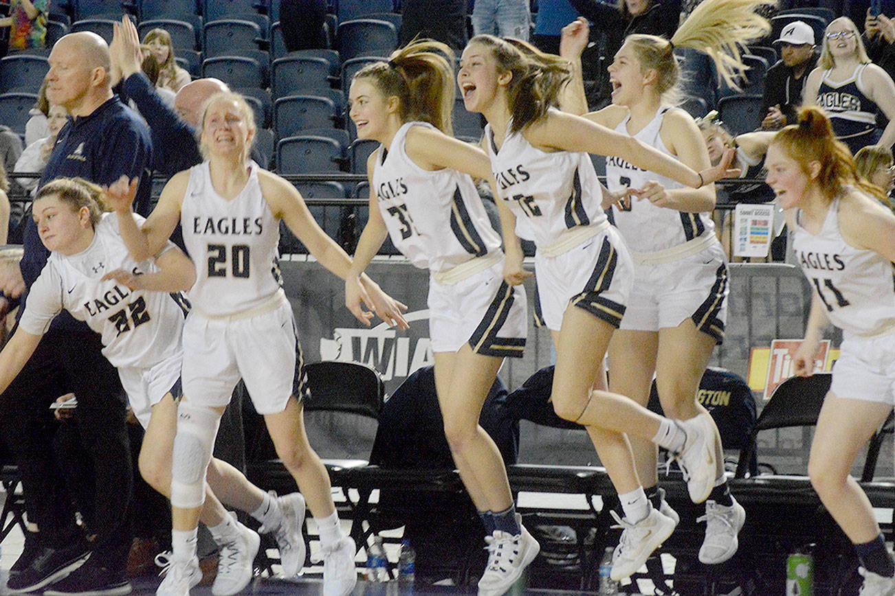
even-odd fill
[{"label": "face of player number 32 leaning at far left", "polygon": [[87,207],[72,211],[72,206],[58,195],[49,195],[34,201],[33,217],[47,250],[76,255],[90,246],[93,225]]}]

